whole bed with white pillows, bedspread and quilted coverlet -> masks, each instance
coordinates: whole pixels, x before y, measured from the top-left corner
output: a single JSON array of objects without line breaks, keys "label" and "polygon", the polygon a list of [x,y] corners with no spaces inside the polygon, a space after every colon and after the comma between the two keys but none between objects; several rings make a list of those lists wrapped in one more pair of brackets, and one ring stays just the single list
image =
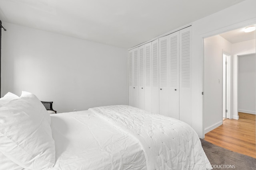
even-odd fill
[{"label": "whole bed with white pillows, bedspread and quilted coverlet", "polygon": [[[24,101],[29,109],[22,103]],[[19,106],[19,102],[22,106]],[[49,115],[40,104],[36,96],[22,92],[22,96],[15,96],[2,107],[0,105],[0,170],[211,169],[196,132],[188,124],[177,119],[125,105]],[[6,108],[11,112],[5,113]],[[29,135],[25,134],[26,137],[18,141],[21,145],[18,147],[23,148],[22,151],[18,150],[17,155],[17,151],[13,151],[17,149],[16,144],[12,146],[10,141],[2,139],[3,134],[12,133],[10,129],[21,128],[4,123],[7,118],[15,119],[18,113],[34,116],[36,110],[36,117],[41,118],[36,118],[39,121],[33,119],[31,124],[34,124],[34,121],[39,123],[36,123],[35,130],[31,130],[33,125],[30,125]],[[10,113],[14,116],[8,117]],[[20,117],[18,121],[20,122]],[[24,124],[27,125],[27,122],[30,120],[26,118]],[[38,130],[41,128],[38,124],[45,126]],[[12,126],[15,128],[11,128]],[[17,136],[23,136],[26,127],[22,128],[9,137],[14,136],[12,138],[16,139]],[[40,134],[42,131],[43,135]],[[35,137],[28,141],[31,134]],[[35,141],[39,144],[34,143]],[[24,143],[26,145],[22,146]],[[27,145],[30,147],[26,148]],[[26,149],[28,151],[23,153]],[[32,153],[27,155],[28,152]]]}]

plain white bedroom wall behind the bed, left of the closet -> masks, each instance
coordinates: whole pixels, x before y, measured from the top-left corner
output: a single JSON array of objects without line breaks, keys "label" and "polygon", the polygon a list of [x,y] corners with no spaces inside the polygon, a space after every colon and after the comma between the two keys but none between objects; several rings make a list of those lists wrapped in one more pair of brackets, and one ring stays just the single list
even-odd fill
[{"label": "plain white bedroom wall behind the bed, left of the closet", "polygon": [[127,49],[3,24],[2,96],[32,92],[58,113],[128,104]]}]

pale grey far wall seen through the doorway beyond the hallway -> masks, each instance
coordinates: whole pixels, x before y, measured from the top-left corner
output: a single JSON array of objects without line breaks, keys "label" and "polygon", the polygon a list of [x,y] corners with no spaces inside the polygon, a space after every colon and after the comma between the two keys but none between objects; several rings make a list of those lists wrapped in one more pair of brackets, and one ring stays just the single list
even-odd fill
[{"label": "pale grey far wall seen through the doorway beyond the hallway", "polygon": [[238,57],[238,111],[255,114],[256,55]]}]

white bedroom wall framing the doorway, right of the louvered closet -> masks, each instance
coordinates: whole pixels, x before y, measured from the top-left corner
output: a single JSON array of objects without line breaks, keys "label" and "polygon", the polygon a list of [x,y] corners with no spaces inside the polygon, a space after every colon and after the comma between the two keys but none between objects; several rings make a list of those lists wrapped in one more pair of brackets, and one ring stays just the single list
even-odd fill
[{"label": "white bedroom wall framing the doorway, right of the louvered closet", "polygon": [[192,23],[192,127],[204,138],[203,119],[203,39],[256,23],[256,1],[245,0]]}]

